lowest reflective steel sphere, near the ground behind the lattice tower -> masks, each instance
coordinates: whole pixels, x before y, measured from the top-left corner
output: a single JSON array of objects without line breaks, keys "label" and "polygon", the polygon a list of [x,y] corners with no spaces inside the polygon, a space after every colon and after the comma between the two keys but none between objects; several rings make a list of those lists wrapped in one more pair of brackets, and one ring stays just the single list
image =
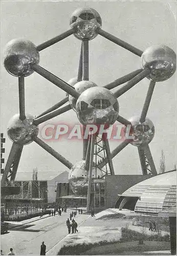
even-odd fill
[{"label": "lowest reflective steel sphere, near the ground behind the lattice tower", "polygon": [[[96,169],[93,167],[92,170],[92,178],[103,177],[104,173],[102,170],[97,168],[97,177],[96,177]],[[69,173],[69,184],[72,188],[74,194],[77,195],[87,195],[89,183],[89,171],[85,169],[85,161],[81,161],[73,165]]]}]

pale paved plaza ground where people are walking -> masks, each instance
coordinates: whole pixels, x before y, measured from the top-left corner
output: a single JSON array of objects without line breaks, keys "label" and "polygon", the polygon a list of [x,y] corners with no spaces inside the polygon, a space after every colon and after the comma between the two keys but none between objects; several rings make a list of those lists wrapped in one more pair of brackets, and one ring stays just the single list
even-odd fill
[{"label": "pale paved plaza ground where people are walking", "polygon": [[[61,217],[58,215],[55,217],[43,216],[41,219],[36,217],[26,220],[18,223],[18,225],[23,225],[13,227],[7,234],[2,235],[3,252],[4,254],[7,253],[9,248],[12,247],[17,255],[39,255],[41,242],[45,241],[47,246],[46,254],[56,255],[63,245],[75,245],[83,242],[95,243],[103,240],[118,241],[121,237],[121,227],[128,227],[129,229],[147,234],[157,233],[156,231],[149,231],[148,228],[134,226],[132,225],[132,219],[123,217],[123,215],[132,215],[134,217],[136,216],[134,212],[121,211],[120,213],[119,211],[118,214],[117,210],[107,209],[96,214],[96,217],[91,217],[85,213],[83,215],[77,214],[74,219],[78,223],[79,232],[75,234],[68,234],[65,224],[72,209],[69,209],[67,213],[63,213]],[[166,233],[162,231],[162,235]],[[152,247],[152,250],[154,248]],[[110,248],[108,251],[109,253],[107,254],[111,254]],[[163,253],[170,254],[170,251],[163,251],[161,254]],[[90,254],[89,251],[88,254]],[[146,254],[146,249],[143,254]],[[151,253],[147,252],[147,254]]]}]

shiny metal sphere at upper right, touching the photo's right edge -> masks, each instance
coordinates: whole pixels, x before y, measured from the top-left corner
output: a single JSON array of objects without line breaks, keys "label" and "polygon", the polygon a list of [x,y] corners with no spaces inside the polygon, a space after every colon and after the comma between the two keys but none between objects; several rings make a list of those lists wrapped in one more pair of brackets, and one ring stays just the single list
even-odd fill
[{"label": "shiny metal sphere at upper right, touching the photo's right edge", "polygon": [[147,77],[153,81],[165,81],[170,78],[176,70],[176,54],[168,46],[151,46],[147,48],[142,56],[143,69],[150,69]]}]

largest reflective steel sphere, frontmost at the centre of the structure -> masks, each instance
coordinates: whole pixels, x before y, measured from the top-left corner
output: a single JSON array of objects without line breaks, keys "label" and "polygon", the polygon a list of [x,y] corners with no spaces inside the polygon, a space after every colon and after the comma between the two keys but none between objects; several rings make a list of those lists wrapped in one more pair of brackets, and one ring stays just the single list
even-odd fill
[{"label": "largest reflective steel sphere, frontmost at the centre of the structure", "polygon": [[103,87],[84,91],[76,103],[79,121],[83,124],[113,124],[117,120],[119,104],[112,92]]}]

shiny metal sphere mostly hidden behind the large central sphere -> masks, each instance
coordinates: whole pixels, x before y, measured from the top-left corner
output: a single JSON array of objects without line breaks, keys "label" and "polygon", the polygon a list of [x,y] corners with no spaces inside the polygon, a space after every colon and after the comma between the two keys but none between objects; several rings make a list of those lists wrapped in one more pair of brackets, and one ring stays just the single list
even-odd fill
[{"label": "shiny metal sphere mostly hidden behind the large central sphere", "polygon": [[[78,91],[80,94],[83,93],[86,89],[89,89],[89,88],[92,88],[92,87],[96,87],[97,84],[92,82],[92,81],[80,81],[80,82],[77,82],[75,85],[74,85],[74,88],[76,91]],[[76,102],[77,102],[77,99],[74,98],[72,95],[69,95],[69,102],[70,102],[70,105],[72,107],[72,109],[74,111],[76,111]]]}]

